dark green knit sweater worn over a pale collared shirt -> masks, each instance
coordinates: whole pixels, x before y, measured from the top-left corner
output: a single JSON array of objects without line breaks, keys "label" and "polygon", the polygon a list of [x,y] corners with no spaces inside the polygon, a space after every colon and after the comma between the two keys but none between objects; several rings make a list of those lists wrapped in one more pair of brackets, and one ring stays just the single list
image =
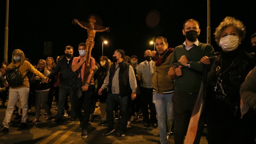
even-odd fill
[{"label": "dark green knit sweater worn over a pale collared shirt", "polygon": [[201,81],[203,64],[200,60],[204,56],[213,57],[216,56],[212,45],[200,43],[198,46],[194,45],[191,49],[187,50],[185,45],[179,45],[174,49],[172,63],[178,67],[181,65],[178,60],[185,55],[188,61],[191,61],[190,68],[182,66],[182,76],[176,77],[174,82],[175,91],[180,92],[199,92]]}]

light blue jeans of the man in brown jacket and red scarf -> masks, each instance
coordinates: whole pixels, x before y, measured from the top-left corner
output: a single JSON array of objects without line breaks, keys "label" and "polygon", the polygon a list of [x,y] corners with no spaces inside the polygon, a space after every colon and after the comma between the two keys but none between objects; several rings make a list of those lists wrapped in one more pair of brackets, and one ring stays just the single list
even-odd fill
[{"label": "light blue jeans of the man in brown jacket and red scarf", "polygon": [[167,133],[173,124],[172,94],[159,94],[153,92],[153,103],[156,106],[157,124],[161,143],[168,143]]}]

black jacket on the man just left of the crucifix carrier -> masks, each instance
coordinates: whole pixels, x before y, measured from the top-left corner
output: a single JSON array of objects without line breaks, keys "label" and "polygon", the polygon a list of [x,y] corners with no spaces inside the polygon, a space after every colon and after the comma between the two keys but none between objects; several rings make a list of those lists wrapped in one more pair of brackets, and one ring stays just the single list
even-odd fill
[{"label": "black jacket on the man just left of the crucifix carrier", "polygon": [[66,56],[58,60],[58,64],[52,70],[52,72],[47,76],[50,79],[54,78],[60,72],[60,85],[73,86],[72,79],[74,72],[72,71],[72,61],[74,56],[68,61]]}]

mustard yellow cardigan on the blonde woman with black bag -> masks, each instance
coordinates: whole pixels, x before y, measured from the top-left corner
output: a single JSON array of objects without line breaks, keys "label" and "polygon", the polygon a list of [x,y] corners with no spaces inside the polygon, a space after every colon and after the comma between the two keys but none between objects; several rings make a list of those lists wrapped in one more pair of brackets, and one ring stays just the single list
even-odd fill
[{"label": "mustard yellow cardigan on the blonde woman with black bag", "polygon": [[[18,67],[20,65],[20,62],[16,62],[16,64],[11,63],[7,68],[12,68],[12,66],[15,65],[16,67]],[[44,75],[42,73],[40,73],[36,68],[34,68],[28,61],[24,61],[22,65],[20,65],[20,74],[22,77],[24,77],[28,71],[31,71],[32,73],[34,73],[36,76],[39,76],[40,78],[44,78]],[[24,78],[24,82],[23,85],[18,86],[18,87],[11,87],[14,89],[17,88],[21,88],[21,87],[29,87],[29,83],[28,83],[28,77],[26,76]]]}]

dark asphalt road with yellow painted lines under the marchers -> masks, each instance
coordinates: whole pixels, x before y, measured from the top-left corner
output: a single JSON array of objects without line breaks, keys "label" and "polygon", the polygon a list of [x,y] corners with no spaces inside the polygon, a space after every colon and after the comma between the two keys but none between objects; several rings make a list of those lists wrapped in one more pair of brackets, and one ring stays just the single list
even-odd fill
[{"label": "dark asphalt road with yellow painted lines under the marchers", "polygon": [[[6,103],[7,105],[7,103]],[[9,133],[0,133],[0,144],[155,144],[159,142],[158,128],[153,127],[145,128],[142,123],[142,118],[132,122],[132,127],[127,128],[127,134],[125,137],[119,136],[118,121],[115,122],[116,131],[109,136],[104,136],[103,132],[106,131],[107,124],[104,126],[100,124],[100,109],[96,108],[95,115],[93,115],[90,121],[88,137],[80,138],[81,129],[79,128],[79,120],[75,122],[69,122],[70,116],[64,118],[61,124],[55,124],[54,116],[57,114],[55,111],[56,102],[53,102],[51,111],[52,117],[45,121],[44,109],[41,108],[41,116],[39,121],[32,123],[35,118],[35,107],[32,107],[32,111],[28,113],[27,127],[20,130],[20,120],[14,121],[13,118],[16,116],[12,115],[10,122]],[[0,108],[0,122],[4,120],[6,108]],[[200,144],[208,144],[206,140],[206,133],[201,137]],[[173,136],[170,135],[168,144],[174,144]]]}]

